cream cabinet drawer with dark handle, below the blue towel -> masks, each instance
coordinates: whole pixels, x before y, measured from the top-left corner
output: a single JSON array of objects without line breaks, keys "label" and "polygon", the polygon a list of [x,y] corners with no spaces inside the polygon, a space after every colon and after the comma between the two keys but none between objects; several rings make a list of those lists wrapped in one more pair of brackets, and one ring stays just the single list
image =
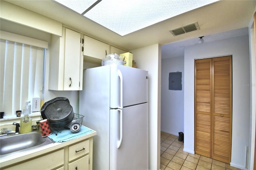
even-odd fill
[{"label": "cream cabinet drawer with dark handle, below the blue towel", "polygon": [[89,153],[89,140],[68,147],[69,161]]}]

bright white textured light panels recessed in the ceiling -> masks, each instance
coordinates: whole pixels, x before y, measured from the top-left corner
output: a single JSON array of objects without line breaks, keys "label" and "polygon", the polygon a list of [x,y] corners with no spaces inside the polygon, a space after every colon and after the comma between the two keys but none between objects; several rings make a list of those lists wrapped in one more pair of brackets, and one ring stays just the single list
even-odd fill
[{"label": "bright white textured light panels recessed in the ceiling", "polygon": [[[55,1],[79,14],[93,3],[92,0]],[[102,0],[84,16],[124,36],[216,1],[218,0]]]}]

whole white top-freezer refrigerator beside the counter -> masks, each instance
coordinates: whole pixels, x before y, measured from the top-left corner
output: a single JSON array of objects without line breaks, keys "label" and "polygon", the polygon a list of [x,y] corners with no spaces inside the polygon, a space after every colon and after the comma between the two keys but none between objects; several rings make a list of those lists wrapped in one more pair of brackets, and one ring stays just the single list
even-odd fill
[{"label": "whole white top-freezer refrigerator beside the counter", "polygon": [[112,64],[83,76],[79,114],[97,131],[93,170],[148,170],[148,71]]}]

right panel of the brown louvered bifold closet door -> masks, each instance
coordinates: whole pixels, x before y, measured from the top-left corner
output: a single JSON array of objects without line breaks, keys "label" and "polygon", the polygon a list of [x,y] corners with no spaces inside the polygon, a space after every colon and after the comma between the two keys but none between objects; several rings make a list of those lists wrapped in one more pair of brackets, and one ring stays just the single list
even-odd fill
[{"label": "right panel of the brown louvered bifold closet door", "polygon": [[232,132],[232,57],[212,58],[212,158],[230,163]]}]

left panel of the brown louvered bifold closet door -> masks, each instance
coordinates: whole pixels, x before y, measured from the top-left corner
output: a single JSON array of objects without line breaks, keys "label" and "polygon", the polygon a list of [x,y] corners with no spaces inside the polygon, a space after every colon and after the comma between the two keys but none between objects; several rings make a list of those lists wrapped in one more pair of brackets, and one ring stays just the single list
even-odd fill
[{"label": "left panel of the brown louvered bifold closet door", "polygon": [[211,157],[212,59],[195,61],[195,152]]}]

